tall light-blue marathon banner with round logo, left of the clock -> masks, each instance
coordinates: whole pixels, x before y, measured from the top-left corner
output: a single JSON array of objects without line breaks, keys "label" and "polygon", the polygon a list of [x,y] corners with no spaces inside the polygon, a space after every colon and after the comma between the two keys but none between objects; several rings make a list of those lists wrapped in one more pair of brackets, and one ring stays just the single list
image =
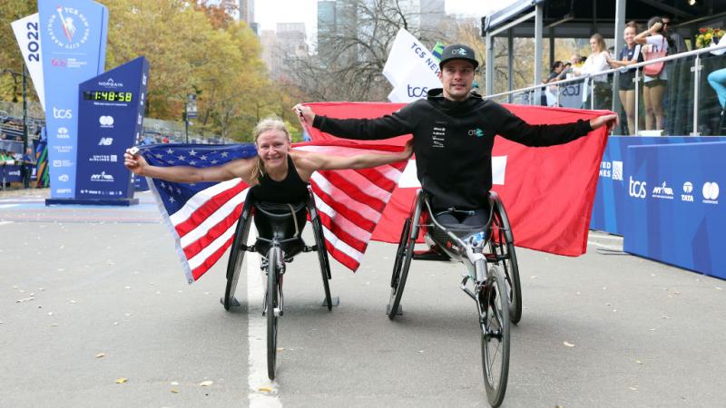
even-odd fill
[{"label": "tall light-blue marathon banner with round logo, left of the clock", "polygon": [[[88,0],[39,0],[51,198],[74,198],[78,84],[103,72],[108,10]],[[67,148],[56,148],[64,145]],[[71,163],[63,173],[56,161]],[[59,176],[66,174],[65,181]]]}]

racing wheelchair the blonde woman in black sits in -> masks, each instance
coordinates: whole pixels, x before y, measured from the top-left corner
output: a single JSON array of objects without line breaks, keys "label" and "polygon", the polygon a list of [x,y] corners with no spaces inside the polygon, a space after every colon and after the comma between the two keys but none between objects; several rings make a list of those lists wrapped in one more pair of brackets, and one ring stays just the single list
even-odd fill
[{"label": "racing wheelchair the blonde woman in black sits in", "polygon": [[[315,245],[308,247],[302,240],[302,229],[310,218]],[[247,246],[250,234],[250,225],[254,219],[258,230],[258,238],[254,245]],[[323,306],[331,310],[338,303],[337,298],[330,296],[329,279],[330,263],[328,251],[325,248],[322,223],[315,208],[312,192],[306,202],[298,204],[278,204],[256,201],[248,195],[242,208],[240,219],[232,242],[230,260],[227,264],[227,287],[224,291],[222,304],[226,310],[233,306],[240,306],[234,297],[237,280],[245,252],[258,252],[262,257],[261,269],[267,275],[267,288],[262,307],[262,316],[267,317],[267,373],[270,380],[275,379],[277,360],[278,318],[282,316],[284,296],[282,281],[286,264],[300,252],[318,253],[320,274],[323,278],[325,300]]]}]

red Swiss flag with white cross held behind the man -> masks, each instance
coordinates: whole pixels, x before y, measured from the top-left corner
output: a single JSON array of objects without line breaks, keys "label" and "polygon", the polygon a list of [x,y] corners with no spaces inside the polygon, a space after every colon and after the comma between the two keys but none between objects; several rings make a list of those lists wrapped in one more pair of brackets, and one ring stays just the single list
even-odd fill
[{"label": "red Swiss flag with white cross held behind the man", "polygon": [[[306,105],[316,114],[330,118],[376,118],[404,106],[402,103],[380,102],[315,102]],[[504,106],[531,124],[590,120],[610,113],[513,104]],[[305,127],[313,141],[336,139],[312,128],[309,123],[305,123]],[[403,145],[409,137],[400,136],[387,142]],[[496,138],[492,153],[493,189],[505,203],[517,247],[572,257],[585,253],[606,143],[605,127],[591,131],[576,141],[546,148],[529,148],[503,137]],[[410,212],[417,190],[413,177],[415,166],[412,164],[408,164],[399,180],[372,239],[393,243],[400,238],[403,219]]]}]

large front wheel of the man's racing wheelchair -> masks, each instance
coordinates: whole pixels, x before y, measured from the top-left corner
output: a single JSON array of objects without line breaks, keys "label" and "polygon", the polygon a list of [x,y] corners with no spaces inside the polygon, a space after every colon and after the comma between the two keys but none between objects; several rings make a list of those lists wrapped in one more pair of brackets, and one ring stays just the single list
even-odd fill
[{"label": "large front wheel of the man's racing wheelchair", "polygon": [[486,287],[479,294],[479,322],[482,329],[482,365],[486,398],[492,406],[505,399],[509,376],[509,307],[504,272],[493,266],[486,277]]}]

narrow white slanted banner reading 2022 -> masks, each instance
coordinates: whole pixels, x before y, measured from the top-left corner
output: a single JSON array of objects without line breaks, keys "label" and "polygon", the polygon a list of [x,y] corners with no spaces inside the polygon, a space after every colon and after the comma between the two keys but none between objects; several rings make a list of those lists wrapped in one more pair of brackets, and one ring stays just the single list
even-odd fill
[{"label": "narrow white slanted banner reading 2022", "polygon": [[45,91],[43,83],[43,61],[41,60],[40,43],[40,21],[37,13],[28,15],[25,18],[14,21],[12,24],[13,33],[20,52],[23,53],[23,61],[30,73],[35,92],[38,94],[40,105],[45,109]]}]

